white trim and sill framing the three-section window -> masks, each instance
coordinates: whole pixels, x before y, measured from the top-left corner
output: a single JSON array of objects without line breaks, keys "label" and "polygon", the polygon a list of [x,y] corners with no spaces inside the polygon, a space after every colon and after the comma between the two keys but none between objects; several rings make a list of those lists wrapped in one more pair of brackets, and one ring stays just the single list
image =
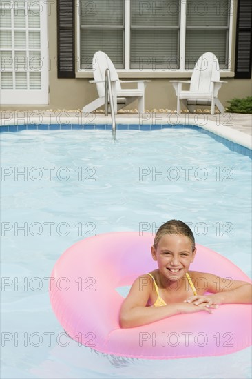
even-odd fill
[{"label": "white trim and sill framing the three-section window", "polygon": [[[233,50],[233,12],[234,1],[230,0],[230,14],[229,14],[229,57]],[[76,78],[92,78],[92,68],[81,68],[81,33],[80,33],[80,6],[79,1],[76,3],[76,52],[77,52],[77,65],[76,65]],[[187,0],[180,0],[180,9],[184,10],[180,17],[180,59],[185,57],[185,33],[186,33],[186,9]],[[130,69],[129,68],[129,53],[130,53],[130,0],[125,0],[125,68],[118,68],[116,71],[120,74],[121,78],[155,78],[155,77],[174,77],[174,78],[187,78],[191,77],[193,69],[185,68],[185,59],[181,59],[180,68],[176,69]],[[234,72],[231,65],[232,57],[229,59],[228,68],[220,69],[221,77],[233,77]]]}]

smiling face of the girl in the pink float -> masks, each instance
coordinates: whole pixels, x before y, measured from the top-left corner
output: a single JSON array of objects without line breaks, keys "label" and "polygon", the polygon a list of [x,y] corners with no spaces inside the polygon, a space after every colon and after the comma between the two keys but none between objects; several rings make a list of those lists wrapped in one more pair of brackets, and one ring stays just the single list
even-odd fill
[{"label": "smiling face of the girl in the pink float", "polygon": [[182,234],[165,234],[155,249],[151,246],[152,258],[165,278],[176,281],[185,276],[196,254],[191,240]]}]

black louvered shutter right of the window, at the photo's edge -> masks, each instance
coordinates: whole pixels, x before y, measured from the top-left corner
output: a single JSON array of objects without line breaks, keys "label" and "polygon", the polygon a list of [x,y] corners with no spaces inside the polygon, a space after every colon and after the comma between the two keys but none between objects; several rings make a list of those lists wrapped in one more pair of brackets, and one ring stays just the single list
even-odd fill
[{"label": "black louvered shutter right of the window, at the photo's edge", "polygon": [[252,0],[238,0],[235,78],[251,78]]}]

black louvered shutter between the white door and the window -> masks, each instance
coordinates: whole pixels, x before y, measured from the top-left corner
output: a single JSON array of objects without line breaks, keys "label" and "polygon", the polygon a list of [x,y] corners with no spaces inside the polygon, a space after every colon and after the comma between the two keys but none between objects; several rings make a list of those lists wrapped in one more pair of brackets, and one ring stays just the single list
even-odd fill
[{"label": "black louvered shutter between the white door and the window", "polygon": [[74,0],[57,1],[58,78],[75,78]]}]

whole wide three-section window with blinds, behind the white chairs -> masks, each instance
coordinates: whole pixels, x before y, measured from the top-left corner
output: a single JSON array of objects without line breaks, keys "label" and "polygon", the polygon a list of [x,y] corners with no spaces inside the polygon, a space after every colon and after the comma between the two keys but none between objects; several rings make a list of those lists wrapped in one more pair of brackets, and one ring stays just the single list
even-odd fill
[{"label": "whole wide three-section window with blinds, behind the white chairs", "polygon": [[233,0],[80,0],[80,70],[103,50],[116,68],[188,70],[204,52],[229,69]]}]

